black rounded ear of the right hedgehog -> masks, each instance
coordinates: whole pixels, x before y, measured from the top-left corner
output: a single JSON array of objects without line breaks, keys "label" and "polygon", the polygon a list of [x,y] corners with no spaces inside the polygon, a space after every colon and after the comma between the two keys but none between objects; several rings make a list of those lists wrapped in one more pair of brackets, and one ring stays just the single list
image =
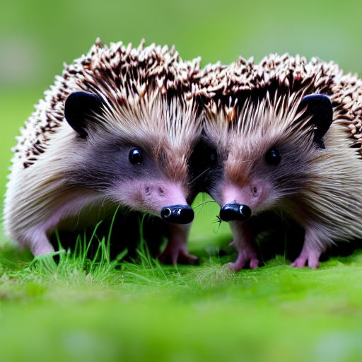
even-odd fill
[{"label": "black rounded ear of the right hedgehog", "polygon": [[310,122],[315,124],[314,141],[320,148],[325,148],[323,136],[333,121],[332,103],[326,95],[313,94],[307,95],[300,101],[297,112],[301,112],[305,107],[307,108],[303,113],[303,118],[312,116]]}]

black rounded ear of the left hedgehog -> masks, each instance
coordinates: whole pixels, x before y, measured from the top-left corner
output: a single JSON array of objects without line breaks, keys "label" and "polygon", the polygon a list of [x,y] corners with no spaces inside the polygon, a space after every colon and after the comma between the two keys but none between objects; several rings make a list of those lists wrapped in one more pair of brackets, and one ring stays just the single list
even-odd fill
[{"label": "black rounded ear of the left hedgehog", "polygon": [[71,128],[78,132],[81,138],[85,139],[87,136],[87,124],[92,122],[92,115],[100,112],[102,105],[102,100],[98,95],[74,92],[66,98],[64,117]]}]

